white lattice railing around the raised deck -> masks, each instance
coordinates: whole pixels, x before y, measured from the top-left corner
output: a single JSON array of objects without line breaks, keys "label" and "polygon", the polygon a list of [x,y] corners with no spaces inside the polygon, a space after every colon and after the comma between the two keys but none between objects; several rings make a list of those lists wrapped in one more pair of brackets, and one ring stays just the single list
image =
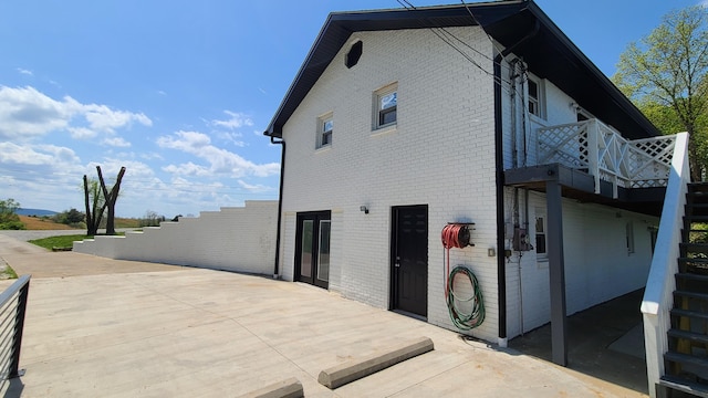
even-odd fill
[{"label": "white lattice railing around the raised deck", "polygon": [[597,119],[538,129],[537,164],[559,163],[584,169],[600,181],[617,188],[666,187],[676,136],[627,140]]}]

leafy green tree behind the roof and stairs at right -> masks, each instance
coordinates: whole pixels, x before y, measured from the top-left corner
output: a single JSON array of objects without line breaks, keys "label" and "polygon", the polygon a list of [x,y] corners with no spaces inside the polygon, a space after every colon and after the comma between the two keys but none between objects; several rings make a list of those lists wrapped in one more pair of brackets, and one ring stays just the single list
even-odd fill
[{"label": "leafy green tree behind the roof and stairs at right", "polygon": [[613,76],[658,128],[688,132],[694,180],[700,180],[708,168],[704,148],[708,137],[707,24],[708,11],[700,6],[668,13],[639,43],[629,43]]}]

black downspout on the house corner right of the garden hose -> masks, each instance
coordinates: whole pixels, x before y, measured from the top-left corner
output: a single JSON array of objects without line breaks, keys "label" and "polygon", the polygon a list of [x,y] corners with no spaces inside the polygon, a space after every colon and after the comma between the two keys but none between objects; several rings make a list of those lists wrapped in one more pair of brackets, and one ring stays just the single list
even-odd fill
[{"label": "black downspout on the house corner right of the garden hose", "polygon": [[[533,30],[517,43],[506,48],[494,56],[494,168],[497,169],[497,248],[498,252],[506,249],[504,226],[504,156],[503,156],[503,124],[501,109],[501,61],[517,46],[534,36],[541,23],[535,20]],[[497,254],[497,300],[499,306],[499,346],[507,346],[507,263],[506,256]]]}]

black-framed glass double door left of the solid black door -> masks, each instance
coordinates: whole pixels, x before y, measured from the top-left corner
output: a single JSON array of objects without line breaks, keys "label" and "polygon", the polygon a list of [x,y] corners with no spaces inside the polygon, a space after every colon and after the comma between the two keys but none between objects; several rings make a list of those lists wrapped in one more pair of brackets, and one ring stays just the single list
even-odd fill
[{"label": "black-framed glass double door left of the solid black door", "polygon": [[330,284],[330,211],[298,213],[295,280],[327,289]]}]

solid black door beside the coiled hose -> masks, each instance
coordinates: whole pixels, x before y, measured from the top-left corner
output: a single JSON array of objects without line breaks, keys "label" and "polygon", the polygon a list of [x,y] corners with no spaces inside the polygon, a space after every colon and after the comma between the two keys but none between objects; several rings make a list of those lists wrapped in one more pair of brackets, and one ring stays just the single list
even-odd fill
[{"label": "solid black door beside the coiled hose", "polygon": [[392,306],[428,316],[428,206],[394,207]]}]

